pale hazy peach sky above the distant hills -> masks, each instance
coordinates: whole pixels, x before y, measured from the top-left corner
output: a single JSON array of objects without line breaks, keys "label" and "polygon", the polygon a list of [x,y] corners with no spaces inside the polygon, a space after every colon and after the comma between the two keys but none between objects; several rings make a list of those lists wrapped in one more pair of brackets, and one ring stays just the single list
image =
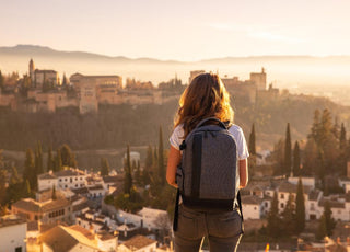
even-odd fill
[{"label": "pale hazy peach sky above the distant hills", "polygon": [[0,0],[0,46],[131,58],[350,55],[349,0]]}]

